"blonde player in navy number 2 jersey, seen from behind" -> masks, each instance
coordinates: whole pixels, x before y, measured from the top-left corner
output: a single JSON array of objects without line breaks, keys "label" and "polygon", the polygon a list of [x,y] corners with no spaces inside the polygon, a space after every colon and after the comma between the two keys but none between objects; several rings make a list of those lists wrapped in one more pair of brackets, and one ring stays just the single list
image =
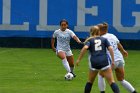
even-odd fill
[{"label": "blonde player in navy number 2 jersey, seen from behind", "polygon": [[90,35],[91,37],[85,41],[85,45],[82,48],[81,53],[76,61],[76,65],[78,66],[86,50],[89,50],[90,69],[88,82],[86,83],[84,93],[90,93],[92,84],[94,83],[94,80],[99,71],[103,73],[113,92],[120,93],[119,88],[114,81],[111,65],[108,62],[108,57],[106,53],[107,48],[111,54],[112,63],[114,63],[114,53],[111,45],[109,44],[107,39],[100,37],[100,31],[98,26],[91,27]]}]

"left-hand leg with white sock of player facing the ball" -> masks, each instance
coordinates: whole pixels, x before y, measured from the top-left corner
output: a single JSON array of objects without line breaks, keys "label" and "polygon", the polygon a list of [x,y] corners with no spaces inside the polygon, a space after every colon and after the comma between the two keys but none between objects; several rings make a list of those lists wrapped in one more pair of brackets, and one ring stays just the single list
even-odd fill
[{"label": "left-hand leg with white sock of player facing the ball", "polygon": [[69,66],[69,63],[68,63],[68,61],[67,61],[65,52],[59,51],[59,52],[57,53],[57,56],[62,60],[62,64],[63,64],[63,66],[65,67],[65,69],[67,70],[67,72],[71,72],[70,66]]}]

